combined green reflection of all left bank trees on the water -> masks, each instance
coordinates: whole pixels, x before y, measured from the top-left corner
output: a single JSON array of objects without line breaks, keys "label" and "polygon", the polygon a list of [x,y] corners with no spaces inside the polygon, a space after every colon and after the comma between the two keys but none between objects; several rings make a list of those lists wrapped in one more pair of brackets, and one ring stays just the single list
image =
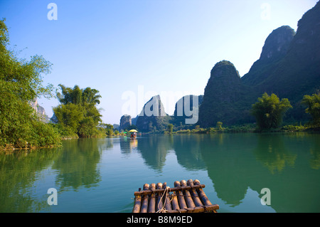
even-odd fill
[{"label": "combined green reflection of all left bank trees on the water", "polygon": [[[55,149],[16,150],[0,154],[0,212],[39,212],[48,208],[46,191],[34,186],[43,171],[53,171],[59,193],[101,181],[97,164],[105,139],[78,139]],[[47,173],[48,174],[48,173]],[[45,176],[46,177],[46,176]],[[37,187],[41,188],[37,191]],[[38,189],[39,190],[39,189]]]}]

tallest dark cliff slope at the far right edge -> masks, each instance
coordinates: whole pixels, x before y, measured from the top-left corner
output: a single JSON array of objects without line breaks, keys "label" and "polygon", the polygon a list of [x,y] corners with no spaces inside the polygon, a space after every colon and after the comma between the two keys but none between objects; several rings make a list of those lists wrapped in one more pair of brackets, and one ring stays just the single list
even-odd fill
[{"label": "tallest dark cliff slope at the far right edge", "polygon": [[260,86],[299,102],[320,88],[320,1],[298,22],[287,54]]}]

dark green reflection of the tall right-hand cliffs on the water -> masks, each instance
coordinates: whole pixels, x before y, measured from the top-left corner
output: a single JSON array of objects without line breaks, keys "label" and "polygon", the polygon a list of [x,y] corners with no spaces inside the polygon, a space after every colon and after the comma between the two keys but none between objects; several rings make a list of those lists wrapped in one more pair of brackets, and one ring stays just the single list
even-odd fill
[{"label": "dark green reflection of the tall right-hand cliffs on the water", "polygon": [[[238,206],[247,189],[260,194],[272,191],[272,208],[277,212],[314,212],[320,206],[319,171],[314,160],[319,156],[318,135],[304,134],[221,134],[201,144],[208,175],[220,199]],[[208,145],[210,143],[210,145]],[[308,151],[311,151],[308,153]],[[297,158],[299,157],[299,162]],[[258,162],[257,162],[258,161]],[[317,163],[317,161],[315,161]],[[297,204],[308,204],[298,208]]]}]

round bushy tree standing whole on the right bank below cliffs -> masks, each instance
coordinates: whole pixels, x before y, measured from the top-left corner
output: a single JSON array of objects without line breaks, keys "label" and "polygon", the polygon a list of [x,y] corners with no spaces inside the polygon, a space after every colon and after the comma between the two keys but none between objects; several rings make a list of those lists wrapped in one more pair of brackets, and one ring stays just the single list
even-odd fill
[{"label": "round bushy tree standing whole on the right bank below cliffs", "polygon": [[252,105],[252,115],[255,116],[260,130],[277,128],[289,108],[292,108],[292,105],[287,98],[280,101],[277,95],[269,96],[264,93],[262,97],[258,97],[258,102]]}]

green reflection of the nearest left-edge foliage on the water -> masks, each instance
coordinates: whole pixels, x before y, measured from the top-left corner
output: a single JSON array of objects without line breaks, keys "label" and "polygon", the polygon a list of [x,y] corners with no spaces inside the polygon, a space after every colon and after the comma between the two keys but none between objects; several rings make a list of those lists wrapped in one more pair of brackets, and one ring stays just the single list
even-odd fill
[{"label": "green reflection of the nearest left-edge foliage on the water", "polygon": [[58,157],[58,149],[16,150],[0,154],[0,212],[38,212],[46,205],[36,193],[34,181]]}]

